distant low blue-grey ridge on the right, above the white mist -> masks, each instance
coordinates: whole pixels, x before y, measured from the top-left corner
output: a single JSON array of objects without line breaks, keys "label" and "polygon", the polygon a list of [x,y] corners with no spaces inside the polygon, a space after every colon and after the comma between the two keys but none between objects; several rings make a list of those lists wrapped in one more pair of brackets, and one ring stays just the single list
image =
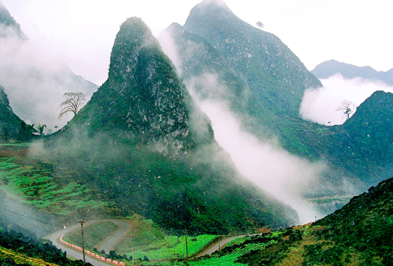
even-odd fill
[{"label": "distant low blue-grey ridge on the right, above the white mist", "polygon": [[360,77],[372,81],[383,81],[389,86],[393,86],[393,69],[389,71],[376,71],[372,67],[356,67],[353,64],[346,64],[336,60],[323,62],[312,71],[318,79],[327,79],[334,74],[341,74],[346,79]]}]

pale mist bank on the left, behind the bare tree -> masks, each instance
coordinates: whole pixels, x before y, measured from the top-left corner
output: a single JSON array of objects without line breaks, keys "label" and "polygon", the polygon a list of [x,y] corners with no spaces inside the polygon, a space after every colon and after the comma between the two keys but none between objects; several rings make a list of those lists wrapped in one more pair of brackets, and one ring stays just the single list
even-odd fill
[{"label": "pale mist bank on the left, behind the bare tree", "polygon": [[55,131],[55,126],[61,128],[72,118],[57,119],[64,93],[82,92],[89,99],[97,86],[12,30],[6,28],[6,37],[0,38],[0,84],[16,115],[30,125],[40,123],[47,125],[45,131]]}]

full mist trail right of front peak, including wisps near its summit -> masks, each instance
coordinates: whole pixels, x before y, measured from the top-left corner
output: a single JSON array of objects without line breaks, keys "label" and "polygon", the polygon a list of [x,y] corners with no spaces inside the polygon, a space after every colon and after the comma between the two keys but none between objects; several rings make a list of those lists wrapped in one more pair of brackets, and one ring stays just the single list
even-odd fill
[{"label": "full mist trail right of front peak, including wisps near its summit", "polygon": [[[159,42],[182,73],[181,57],[169,33],[162,33]],[[195,43],[188,43],[192,53]],[[190,48],[191,47],[191,48]],[[237,170],[262,190],[297,211],[300,223],[314,221],[321,214],[302,198],[304,191],[316,183],[324,163],[311,163],[281,148],[277,139],[259,139],[246,131],[241,121],[250,119],[232,112],[228,102],[230,91],[217,74],[205,72],[184,81],[200,108],[210,118],[215,139],[227,151]]]}]

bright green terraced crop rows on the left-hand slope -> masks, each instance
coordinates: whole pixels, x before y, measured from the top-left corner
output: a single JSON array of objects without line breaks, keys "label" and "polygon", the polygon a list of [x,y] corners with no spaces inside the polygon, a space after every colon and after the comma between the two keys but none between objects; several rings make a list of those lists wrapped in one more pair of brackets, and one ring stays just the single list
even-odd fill
[{"label": "bright green terraced crop rows on the left-hand slope", "polygon": [[42,212],[69,216],[86,209],[103,209],[108,202],[91,199],[92,191],[76,182],[60,188],[51,171],[38,165],[23,165],[16,157],[0,157],[0,189],[18,195],[22,202]]}]

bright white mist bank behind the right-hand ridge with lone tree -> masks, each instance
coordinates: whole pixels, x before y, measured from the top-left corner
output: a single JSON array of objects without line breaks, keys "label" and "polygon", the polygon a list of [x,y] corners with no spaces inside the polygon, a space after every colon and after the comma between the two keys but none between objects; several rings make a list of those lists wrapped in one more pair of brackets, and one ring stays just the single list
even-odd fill
[{"label": "bright white mist bank behind the right-hand ridge with lone tree", "polygon": [[345,79],[341,74],[321,79],[321,83],[324,85],[321,88],[304,91],[300,106],[300,115],[304,120],[321,125],[342,125],[346,121],[343,112],[336,111],[343,100],[359,106],[375,91],[393,93],[393,86],[382,81]]}]

